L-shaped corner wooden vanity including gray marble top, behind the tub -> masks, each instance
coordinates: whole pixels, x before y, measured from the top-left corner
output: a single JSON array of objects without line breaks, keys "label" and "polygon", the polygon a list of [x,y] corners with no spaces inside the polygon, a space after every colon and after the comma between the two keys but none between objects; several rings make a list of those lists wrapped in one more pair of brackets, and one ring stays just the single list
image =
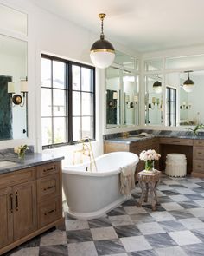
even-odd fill
[{"label": "L-shaped corner wooden vanity including gray marble top, behind the tub", "polygon": [[[139,155],[143,150],[155,149],[162,155],[159,163],[156,163],[159,164],[160,170],[165,169],[167,154],[182,153],[187,157],[188,174],[204,177],[204,136],[194,136],[189,132],[149,131],[147,136],[141,137],[140,132],[127,137],[123,137],[122,134],[105,135],[104,153],[130,151]],[[144,162],[139,161],[137,172],[143,168]]]}]

